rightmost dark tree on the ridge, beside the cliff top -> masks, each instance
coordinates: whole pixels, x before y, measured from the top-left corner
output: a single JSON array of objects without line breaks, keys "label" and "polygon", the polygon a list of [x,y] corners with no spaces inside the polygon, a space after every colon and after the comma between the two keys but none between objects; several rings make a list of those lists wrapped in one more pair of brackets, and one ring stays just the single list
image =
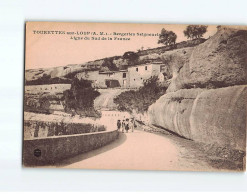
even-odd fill
[{"label": "rightmost dark tree on the ridge, beside the cliff top", "polygon": [[207,28],[205,25],[189,25],[184,30],[184,36],[188,39],[201,38],[207,32]]}]

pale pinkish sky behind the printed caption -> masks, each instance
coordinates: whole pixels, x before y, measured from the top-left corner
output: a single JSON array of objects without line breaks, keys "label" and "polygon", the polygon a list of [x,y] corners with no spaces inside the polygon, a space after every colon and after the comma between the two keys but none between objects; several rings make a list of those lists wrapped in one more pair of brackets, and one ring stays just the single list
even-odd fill
[{"label": "pale pinkish sky behind the printed caption", "polygon": [[[27,22],[25,66],[26,69],[38,69],[82,64],[105,57],[123,55],[126,51],[137,51],[142,47],[144,49],[160,47],[163,45],[157,43],[158,36],[144,37],[138,36],[137,33],[158,34],[162,28],[175,32],[176,42],[181,42],[187,40],[183,34],[186,26],[181,24]],[[214,35],[216,30],[216,26],[208,26],[204,38]],[[75,34],[69,34],[71,32]],[[103,35],[100,35],[100,32]],[[132,33],[132,36],[114,35],[114,32]],[[133,33],[135,33],[134,36]],[[79,37],[80,40],[75,40],[75,37],[77,39]],[[92,40],[93,37],[100,40]],[[114,40],[115,37],[130,38],[130,40]],[[103,38],[106,40],[102,40]],[[110,38],[112,40],[108,40]]]}]

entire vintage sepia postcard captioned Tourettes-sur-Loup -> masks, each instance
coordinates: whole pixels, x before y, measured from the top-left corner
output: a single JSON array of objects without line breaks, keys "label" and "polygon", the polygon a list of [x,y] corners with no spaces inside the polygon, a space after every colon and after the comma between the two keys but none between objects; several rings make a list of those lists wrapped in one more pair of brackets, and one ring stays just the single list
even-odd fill
[{"label": "entire vintage sepia postcard captioned Tourettes-sur-Loup", "polygon": [[246,26],[25,33],[24,167],[245,171]]}]

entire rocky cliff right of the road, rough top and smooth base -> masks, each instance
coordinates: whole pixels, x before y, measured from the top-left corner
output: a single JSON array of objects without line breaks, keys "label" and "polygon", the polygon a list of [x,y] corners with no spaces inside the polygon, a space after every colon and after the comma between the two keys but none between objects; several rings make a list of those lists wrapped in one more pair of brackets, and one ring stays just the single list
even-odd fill
[{"label": "entire rocky cliff right of the road, rough top and smooth base", "polygon": [[150,123],[245,151],[247,31],[221,28],[194,48],[166,52],[163,60],[170,63],[171,84],[149,107]]}]

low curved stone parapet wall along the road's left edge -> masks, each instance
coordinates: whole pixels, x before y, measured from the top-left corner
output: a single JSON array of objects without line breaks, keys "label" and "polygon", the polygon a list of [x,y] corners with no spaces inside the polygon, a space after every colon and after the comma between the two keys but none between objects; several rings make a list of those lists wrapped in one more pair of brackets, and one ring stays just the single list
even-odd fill
[{"label": "low curved stone parapet wall along the road's left edge", "polygon": [[55,163],[100,148],[118,138],[118,131],[35,138],[23,142],[23,165],[41,166]]}]

